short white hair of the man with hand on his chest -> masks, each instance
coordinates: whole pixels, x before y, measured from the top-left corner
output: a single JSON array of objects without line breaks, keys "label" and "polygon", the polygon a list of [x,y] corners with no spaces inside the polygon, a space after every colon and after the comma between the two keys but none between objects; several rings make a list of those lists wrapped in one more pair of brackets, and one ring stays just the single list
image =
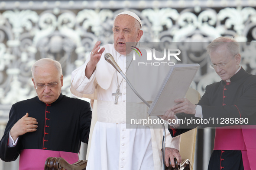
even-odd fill
[{"label": "short white hair of the man with hand on his chest", "polygon": [[36,67],[41,67],[41,68],[43,68],[43,67],[49,66],[49,65],[55,66],[55,68],[58,70],[58,75],[59,75],[59,77],[62,76],[62,65],[61,65],[61,63],[59,63],[59,62],[56,61],[56,60],[52,60],[52,59],[50,59],[50,58],[42,58],[42,59],[40,59],[40,60],[37,60],[37,61],[33,64],[32,68],[31,68],[32,77],[34,77],[34,72],[35,72]]}]

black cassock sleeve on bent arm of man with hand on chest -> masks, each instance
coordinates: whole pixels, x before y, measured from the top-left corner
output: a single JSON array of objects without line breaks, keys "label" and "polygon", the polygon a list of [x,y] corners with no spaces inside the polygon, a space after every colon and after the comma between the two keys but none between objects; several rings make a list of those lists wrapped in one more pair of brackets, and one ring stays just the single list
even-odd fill
[{"label": "black cassock sleeve on bent arm of man with hand on chest", "polygon": [[10,110],[9,121],[6,125],[4,135],[0,141],[0,158],[6,162],[15,161],[17,159],[17,157],[19,156],[19,150],[20,150],[19,139],[18,139],[17,145],[15,147],[8,146],[10,129],[13,127],[13,125],[17,121],[18,120],[17,120],[16,108],[13,105]]}]

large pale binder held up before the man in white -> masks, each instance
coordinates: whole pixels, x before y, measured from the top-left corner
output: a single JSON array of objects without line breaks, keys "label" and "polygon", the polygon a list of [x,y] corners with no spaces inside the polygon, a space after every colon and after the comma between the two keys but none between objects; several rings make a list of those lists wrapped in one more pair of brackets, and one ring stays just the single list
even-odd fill
[{"label": "large pale binder held up before the man in white", "polygon": [[175,103],[176,99],[184,98],[198,69],[199,64],[175,64],[172,66],[149,107],[149,115],[162,116],[169,108],[177,104]]}]

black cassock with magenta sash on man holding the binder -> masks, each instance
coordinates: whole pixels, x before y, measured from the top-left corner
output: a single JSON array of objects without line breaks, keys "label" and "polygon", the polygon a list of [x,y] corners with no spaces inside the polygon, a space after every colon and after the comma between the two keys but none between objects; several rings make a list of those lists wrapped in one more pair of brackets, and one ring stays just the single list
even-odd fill
[{"label": "black cassock with magenta sash on man holding the binder", "polygon": [[[243,125],[256,124],[256,76],[241,68],[230,78],[230,82],[222,80],[207,85],[198,105],[201,105],[203,119],[208,120],[208,123],[194,123],[189,126],[181,123],[178,129],[169,129],[171,135],[180,135],[199,125],[218,127],[208,170],[243,170],[243,166],[245,170],[256,170],[255,126],[250,126],[250,129],[246,129],[248,126],[233,126],[241,125],[242,120],[246,123],[248,120],[248,123]],[[185,113],[178,113],[176,116],[182,120],[185,120],[185,117],[201,119]],[[219,128],[221,126],[229,128]]]}]

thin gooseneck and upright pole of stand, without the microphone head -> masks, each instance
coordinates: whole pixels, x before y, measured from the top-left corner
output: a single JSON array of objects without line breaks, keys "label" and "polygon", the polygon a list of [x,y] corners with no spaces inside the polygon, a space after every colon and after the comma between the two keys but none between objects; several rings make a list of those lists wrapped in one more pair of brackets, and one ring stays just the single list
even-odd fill
[{"label": "thin gooseneck and upright pole of stand, without the microphone head", "polygon": [[[122,72],[122,70],[119,72],[121,76],[126,80],[130,88],[132,88],[133,92],[142,100],[148,107],[150,107],[150,104],[143,98],[139,93],[133,88],[133,85],[130,83],[130,81],[127,79],[125,74]],[[157,116],[159,119],[162,119],[160,116]],[[162,170],[165,170],[165,125],[162,124],[163,129],[163,139],[162,139]]]}]

